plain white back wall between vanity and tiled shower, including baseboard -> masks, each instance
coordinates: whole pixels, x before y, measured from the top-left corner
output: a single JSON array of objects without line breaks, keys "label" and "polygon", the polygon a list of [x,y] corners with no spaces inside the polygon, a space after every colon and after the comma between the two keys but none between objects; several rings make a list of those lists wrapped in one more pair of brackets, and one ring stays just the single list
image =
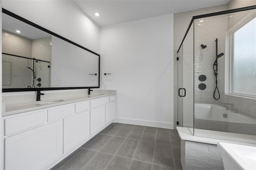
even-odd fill
[{"label": "plain white back wall between vanity and tiled shower, including baseboard", "polygon": [[102,27],[100,47],[116,121],[173,128],[173,14]]}]

